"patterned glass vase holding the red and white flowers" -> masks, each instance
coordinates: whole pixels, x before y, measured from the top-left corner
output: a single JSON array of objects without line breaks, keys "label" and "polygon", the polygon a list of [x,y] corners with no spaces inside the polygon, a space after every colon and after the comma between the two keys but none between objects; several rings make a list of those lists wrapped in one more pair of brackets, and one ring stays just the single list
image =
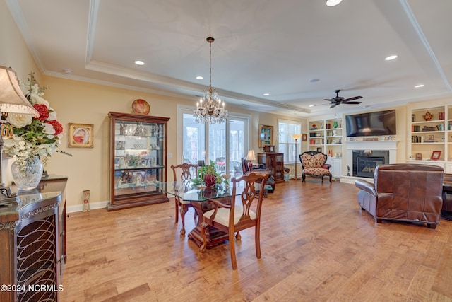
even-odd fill
[{"label": "patterned glass vase holding the red and white flowers", "polygon": [[32,190],[39,185],[42,177],[42,162],[35,157],[25,163],[25,167],[20,167],[17,161],[11,165],[14,183],[19,190]]}]

